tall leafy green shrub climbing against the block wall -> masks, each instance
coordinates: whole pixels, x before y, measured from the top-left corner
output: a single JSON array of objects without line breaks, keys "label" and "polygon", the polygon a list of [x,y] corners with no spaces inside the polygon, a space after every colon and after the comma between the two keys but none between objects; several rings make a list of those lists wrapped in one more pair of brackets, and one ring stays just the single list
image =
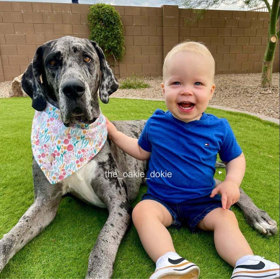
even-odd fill
[{"label": "tall leafy green shrub climbing against the block wall", "polygon": [[97,3],[89,8],[89,39],[97,42],[105,56],[113,55],[121,60],[124,54],[124,36],[120,14],[111,5]]}]

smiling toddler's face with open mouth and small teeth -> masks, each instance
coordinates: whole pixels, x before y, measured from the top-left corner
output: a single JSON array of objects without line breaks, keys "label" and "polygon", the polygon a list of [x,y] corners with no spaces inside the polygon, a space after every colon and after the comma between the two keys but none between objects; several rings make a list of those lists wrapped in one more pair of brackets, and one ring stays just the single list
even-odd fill
[{"label": "smiling toddler's face with open mouth and small teeth", "polygon": [[184,122],[200,119],[215,90],[212,67],[210,57],[200,53],[181,51],[170,57],[161,86],[174,117]]}]

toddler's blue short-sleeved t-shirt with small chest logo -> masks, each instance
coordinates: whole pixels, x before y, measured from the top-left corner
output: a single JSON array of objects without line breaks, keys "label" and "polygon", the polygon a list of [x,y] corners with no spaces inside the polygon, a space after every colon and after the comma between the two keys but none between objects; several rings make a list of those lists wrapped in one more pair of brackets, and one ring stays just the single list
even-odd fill
[{"label": "toddler's blue short-sleeved t-shirt with small chest logo", "polygon": [[227,120],[206,113],[185,123],[169,111],[156,110],[138,144],[151,152],[147,192],[171,203],[209,195],[217,154],[228,162],[242,153]]}]

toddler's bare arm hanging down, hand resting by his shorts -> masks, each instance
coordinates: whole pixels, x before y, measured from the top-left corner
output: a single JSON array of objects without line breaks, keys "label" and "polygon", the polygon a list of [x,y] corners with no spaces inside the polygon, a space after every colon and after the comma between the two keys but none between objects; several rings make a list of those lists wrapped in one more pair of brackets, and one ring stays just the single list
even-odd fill
[{"label": "toddler's bare arm hanging down, hand resting by his shorts", "polygon": [[212,190],[210,197],[214,197],[220,193],[223,209],[229,209],[240,197],[239,186],[244,177],[246,167],[244,154],[241,153],[237,158],[227,163],[225,162],[225,164],[227,173],[225,181]]}]

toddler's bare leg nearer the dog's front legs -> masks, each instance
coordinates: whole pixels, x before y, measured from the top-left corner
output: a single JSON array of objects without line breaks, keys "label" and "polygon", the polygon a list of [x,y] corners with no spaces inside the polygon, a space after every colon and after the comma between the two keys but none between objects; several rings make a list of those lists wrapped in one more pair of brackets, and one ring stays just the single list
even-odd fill
[{"label": "toddler's bare leg nearer the dog's front legs", "polygon": [[139,202],[133,209],[132,220],[144,249],[154,262],[167,252],[175,252],[166,229],[173,217],[162,204],[150,199]]}]

